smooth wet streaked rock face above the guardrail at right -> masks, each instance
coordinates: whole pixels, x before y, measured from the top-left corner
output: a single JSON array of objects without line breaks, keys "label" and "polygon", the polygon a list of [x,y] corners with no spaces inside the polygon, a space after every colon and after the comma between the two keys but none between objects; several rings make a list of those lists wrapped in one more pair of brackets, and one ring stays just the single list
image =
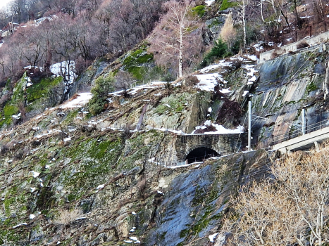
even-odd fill
[{"label": "smooth wet streaked rock face above the guardrail at right", "polygon": [[327,63],[328,45],[323,45],[256,67],[259,79],[252,89],[252,108],[255,115],[267,119],[254,121],[254,144],[266,147],[271,144],[272,135],[289,135],[301,129],[303,108],[309,128],[328,119],[324,95]]}]

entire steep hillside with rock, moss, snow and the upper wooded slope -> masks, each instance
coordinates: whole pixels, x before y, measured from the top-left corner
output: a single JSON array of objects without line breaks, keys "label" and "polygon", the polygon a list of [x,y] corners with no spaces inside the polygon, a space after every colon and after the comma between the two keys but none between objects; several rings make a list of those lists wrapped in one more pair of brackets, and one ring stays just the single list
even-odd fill
[{"label": "entire steep hillside with rock, moss, snow and the upper wooded slope", "polygon": [[[261,1],[263,15],[255,16],[252,4],[242,12],[235,1],[195,1],[188,11],[199,21],[192,33],[202,44],[187,43],[199,53],[187,52],[180,64],[187,75],[177,78],[180,60],[166,60],[145,39],[170,4],[150,0],[132,11],[140,2],[95,1],[87,8],[81,1],[77,13],[58,10],[63,3],[59,12],[49,6],[63,12],[54,22],[15,30],[26,39],[29,30],[58,30],[40,35],[54,43],[42,39],[39,67],[29,61],[21,70],[25,56],[13,56],[32,52],[24,48],[35,47],[30,39],[21,46],[15,34],[4,39],[3,70],[4,57],[18,60],[10,60],[0,83],[0,245],[222,246],[217,233],[232,195],[272,175],[278,155],[271,145],[301,134],[303,109],[306,132],[328,124],[327,42],[263,63],[257,58],[273,46],[280,53],[292,35],[325,30],[328,6]],[[315,11],[321,15],[311,18]],[[228,17],[237,36],[212,44]],[[137,20],[147,28],[134,26]],[[239,50],[245,55],[232,56]]]}]

